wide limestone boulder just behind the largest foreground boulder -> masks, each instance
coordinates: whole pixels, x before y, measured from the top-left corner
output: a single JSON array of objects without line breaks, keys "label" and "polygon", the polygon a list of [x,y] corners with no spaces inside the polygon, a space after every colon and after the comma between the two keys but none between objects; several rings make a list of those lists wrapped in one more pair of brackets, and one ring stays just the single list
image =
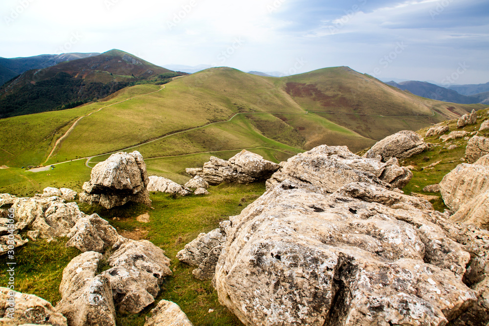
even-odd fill
[{"label": "wide limestone boulder just behind the largest foreground boulder", "polygon": [[333,193],[350,182],[402,188],[412,175],[409,169],[398,165],[397,159],[382,163],[362,158],[346,146],[321,145],[280,163],[280,170],[267,180],[267,189],[286,179],[313,184],[325,193]]}]

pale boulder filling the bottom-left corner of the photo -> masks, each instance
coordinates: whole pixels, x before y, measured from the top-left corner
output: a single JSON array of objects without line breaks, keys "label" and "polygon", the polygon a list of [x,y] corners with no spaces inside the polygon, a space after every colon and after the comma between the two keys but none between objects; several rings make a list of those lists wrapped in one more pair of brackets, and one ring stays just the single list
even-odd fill
[{"label": "pale boulder filling the bottom-left corner of the photo", "polygon": [[[7,300],[14,300],[15,307]],[[0,287],[0,325],[23,324],[67,326],[67,319],[38,296]]]}]

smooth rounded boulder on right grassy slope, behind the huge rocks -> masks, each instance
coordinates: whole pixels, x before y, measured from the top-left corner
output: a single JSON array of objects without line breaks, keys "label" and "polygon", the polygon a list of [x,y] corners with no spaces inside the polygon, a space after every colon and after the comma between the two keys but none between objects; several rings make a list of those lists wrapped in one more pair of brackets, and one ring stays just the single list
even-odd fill
[{"label": "smooth rounded boulder on right grassy slope, behind the huge rocks", "polygon": [[386,162],[391,157],[398,159],[411,157],[427,148],[428,144],[424,143],[419,134],[411,130],[402,130],[377,142],[364,157],[376,158],[380,155],[382,162]]}]

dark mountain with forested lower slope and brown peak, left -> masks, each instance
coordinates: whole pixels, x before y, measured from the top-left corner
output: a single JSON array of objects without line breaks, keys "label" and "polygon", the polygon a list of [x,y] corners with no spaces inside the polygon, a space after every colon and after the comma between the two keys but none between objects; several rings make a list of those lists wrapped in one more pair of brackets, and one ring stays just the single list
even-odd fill
[{"label": "dark mountain with forested lower slope and brown peak, left", "polygon": [[120,50],[32,69],[0,88],[0,118],[69,109],[136,83],[180,76]]}]

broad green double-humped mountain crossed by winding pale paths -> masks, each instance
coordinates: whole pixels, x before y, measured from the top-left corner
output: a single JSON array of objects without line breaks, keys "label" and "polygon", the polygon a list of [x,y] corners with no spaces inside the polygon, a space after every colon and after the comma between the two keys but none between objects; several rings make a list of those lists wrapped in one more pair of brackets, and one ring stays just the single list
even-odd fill
[{"label": "broad green double-humped mountain crossed by winding pale paths", "polygon": [[0,165],[137,150],[151,158],[151,171],[180,180],[182,166],[197,167],[210,152],[255,149],[277,161],[319,144],[356,152],[399,130],[483,108],[418,97],[348,67],[283,78],[210,68],[73,109],[1,119]]}]

